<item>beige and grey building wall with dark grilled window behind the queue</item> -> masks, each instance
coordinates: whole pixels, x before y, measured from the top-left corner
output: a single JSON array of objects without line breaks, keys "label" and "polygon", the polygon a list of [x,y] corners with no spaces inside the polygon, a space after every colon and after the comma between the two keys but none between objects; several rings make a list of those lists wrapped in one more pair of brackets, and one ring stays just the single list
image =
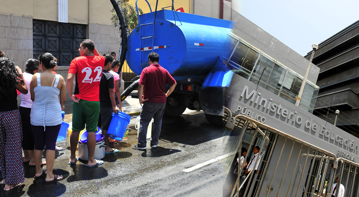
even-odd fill
[{"label": "beige and grey building wall with dark grilled window behind the queue", "polygon": [[59,60],[56,72],[66,78],[83,39],[91,39],[100,54],[118,52],[119,30],[111,24],[108,0],[0,0],[0,4],[0,50],[23,71],[29,58],[50,52]]}]

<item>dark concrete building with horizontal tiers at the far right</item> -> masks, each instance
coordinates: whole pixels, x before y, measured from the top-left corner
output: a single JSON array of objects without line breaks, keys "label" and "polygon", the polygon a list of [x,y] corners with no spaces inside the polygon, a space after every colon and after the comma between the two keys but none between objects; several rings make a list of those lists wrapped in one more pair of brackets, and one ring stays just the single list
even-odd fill
[{"label": "dark concrete building with horizontal tiers at the far right", "polygon": [[320,68],[314,114],[334,123],[339,110],[336,126],[359,136],[359,21],[320,43],[313,63]]}]

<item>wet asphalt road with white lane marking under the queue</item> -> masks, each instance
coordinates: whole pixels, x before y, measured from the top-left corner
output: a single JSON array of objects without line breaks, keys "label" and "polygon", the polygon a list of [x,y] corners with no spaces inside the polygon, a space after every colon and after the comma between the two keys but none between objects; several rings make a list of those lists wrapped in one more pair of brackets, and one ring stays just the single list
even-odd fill
[{"label": "wet asphalt road with white lane marking under the queue", "polygon": [[35,168],[24,164],[25,182],[10,191],[0,186],[0,196],[222,196],[222,127],[211,126],[203,112],[164,117],[158,148],[150,148],[148,140],[148,149],[135,150],[131,148],[137,142],[135,121],[132,117],[127,141],[110,144],[120,152],[107,154],[104,164],[93,168],[81,160],[67,164],[66,138],[58,143],[65,149],[56,152],[53,170],[64,180],[51,184],[44,183],[45,178],[35,180]]}]

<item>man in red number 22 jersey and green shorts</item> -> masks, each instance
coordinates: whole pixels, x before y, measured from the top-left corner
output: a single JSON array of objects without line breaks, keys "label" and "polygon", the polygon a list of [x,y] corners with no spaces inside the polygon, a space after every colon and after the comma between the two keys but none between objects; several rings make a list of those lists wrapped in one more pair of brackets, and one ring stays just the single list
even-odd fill
[{"label": "man in red number 22 jersey and green shorts", "polygon": [[[76,147],[80,131],[85,129],[87,134],[88,163],[87,167],[103,164],[102,160],[93,158],[96,145],[95,132],[100,112],[99,85],[105,58],[100,56],[91,40],[84,40],[79,48],[80,57],[70,64],[67,75],[67,91],[73,104],[73,123],[70,136],[71,158],[69,164],[75,164]],[[74,76],[76,75],[75,93],[73,95]]]}]

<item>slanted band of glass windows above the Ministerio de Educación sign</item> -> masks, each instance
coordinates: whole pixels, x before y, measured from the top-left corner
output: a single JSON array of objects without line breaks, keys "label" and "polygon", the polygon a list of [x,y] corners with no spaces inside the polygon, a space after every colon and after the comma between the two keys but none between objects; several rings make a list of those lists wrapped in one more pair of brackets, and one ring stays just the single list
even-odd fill
[{"label": "slanted band of glass windows above the Ministerio de Educaci\u00f3n sign", "polygon": [[[229,69],[295,104],[303,82],[302,76],[244,40],[234,35],[229,39],[232,41],[232,53],[225,59]],[[299,107],[312,113],[318,91],[317,85],[307,81]]]}]

